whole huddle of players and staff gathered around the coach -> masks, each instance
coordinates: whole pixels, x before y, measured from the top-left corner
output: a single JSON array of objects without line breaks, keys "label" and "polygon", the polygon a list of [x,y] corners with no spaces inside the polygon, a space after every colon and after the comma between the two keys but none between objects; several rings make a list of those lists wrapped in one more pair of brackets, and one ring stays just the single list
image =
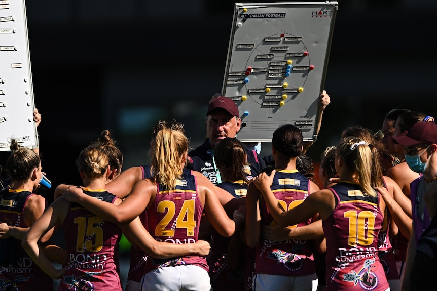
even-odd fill
[{"label": "whole huddle of players and staff gathered around the coach", "polygon": [[[77,159],[83,185],[58,185],[51,205],[34,194],[38,153],[13,140],[0,192],[0,290],[53,290],[54,279],[58,290],[429,288],[432,117],[396,109],[379,132],[344,129],[321,155],[318,185],[298,127],[279,126],[261,157],[236,138],[234,101],[215,97],[205,142],[190,150],[182,124],[160,121],[147,165],[122,171],[104,130]],[[329,103],[323,91],[320,114]],[[65,250],[51,242],[59,228]],[[122,234],[132,244],[126,286]]]}]

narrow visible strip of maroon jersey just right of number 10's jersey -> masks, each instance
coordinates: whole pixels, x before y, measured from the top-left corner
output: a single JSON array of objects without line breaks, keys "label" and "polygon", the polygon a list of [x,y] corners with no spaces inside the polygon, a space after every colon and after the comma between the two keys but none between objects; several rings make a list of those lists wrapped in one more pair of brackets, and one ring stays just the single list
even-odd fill
[{"label": "narrow visible strip of maroon jersey just right of number 10's jersey", "polygon": [[[387,188],[386,184],[385,188]],[[387,280],[399,280],[400,278],[399,273],[397,272],[393,247],[389,238],[391,220],[392,218],[388,211],[388,207],[385,207],[384,219],[382,221],[381,230],[378,233],[378,257],[384,267]]]}]

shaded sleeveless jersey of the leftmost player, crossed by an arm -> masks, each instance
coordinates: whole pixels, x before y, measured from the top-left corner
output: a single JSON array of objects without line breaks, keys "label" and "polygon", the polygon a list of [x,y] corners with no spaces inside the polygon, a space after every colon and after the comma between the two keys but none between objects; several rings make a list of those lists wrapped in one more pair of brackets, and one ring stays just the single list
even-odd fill
[{"label": "shaded sleeveless jersey of the leftmost player, crossed by an arm", "polygon": [[[35,195],[25,190],[0,191],[0,222],[10,226],[29,227],[24,223],[23,211]],[[1,290],[53,290],[53,279],[34,264],[21,246],[21,240],[10,237],[0,239]]]}]

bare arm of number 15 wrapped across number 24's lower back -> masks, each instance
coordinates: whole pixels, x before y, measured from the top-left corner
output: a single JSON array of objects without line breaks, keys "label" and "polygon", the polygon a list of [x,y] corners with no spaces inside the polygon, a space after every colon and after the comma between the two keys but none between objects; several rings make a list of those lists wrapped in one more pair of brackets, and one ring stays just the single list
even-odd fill
[{"label": "bare arm of number 15 wrapped across number 24's lower back", "polygon": [[206,256],[211,246],[207,241],[198,240],[195,243],[175,244],[156,241],[150,233],[144,229],[139,217],[123,224],[123,233],[128,240],[150,256],[167,259],[187,255]]}]

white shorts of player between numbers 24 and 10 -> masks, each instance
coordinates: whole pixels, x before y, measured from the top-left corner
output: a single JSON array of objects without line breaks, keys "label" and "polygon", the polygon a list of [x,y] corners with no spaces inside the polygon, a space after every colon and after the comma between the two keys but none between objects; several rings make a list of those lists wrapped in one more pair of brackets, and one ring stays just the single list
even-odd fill
[{"label": "white shorts of player between numbers 24 and 10", "polygon": [[316,291],[319,279],[316,273],[305,276],[279,276],[256,274],[253,277],[253,291]]}]

